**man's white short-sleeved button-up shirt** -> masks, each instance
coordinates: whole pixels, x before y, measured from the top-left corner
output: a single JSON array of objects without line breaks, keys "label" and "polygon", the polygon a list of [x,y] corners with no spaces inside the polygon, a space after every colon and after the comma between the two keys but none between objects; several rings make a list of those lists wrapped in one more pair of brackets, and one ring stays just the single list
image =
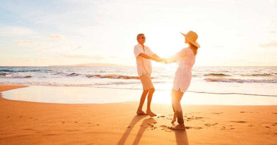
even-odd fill
[{"label": "man's white short-sleeved button-up shirt", "polygon": [[144,53],[149,56],[153,56],[155,53],[150,50],[149,47],[144,45],[144,50],[141,44],[138,44],[134,47],[134,54],[136,56],[136,67],[138,69],[139,77],[143,74],[152,73],[152,65],[150,59],[145,59],[144,57],[139,56],[140,53]]}]

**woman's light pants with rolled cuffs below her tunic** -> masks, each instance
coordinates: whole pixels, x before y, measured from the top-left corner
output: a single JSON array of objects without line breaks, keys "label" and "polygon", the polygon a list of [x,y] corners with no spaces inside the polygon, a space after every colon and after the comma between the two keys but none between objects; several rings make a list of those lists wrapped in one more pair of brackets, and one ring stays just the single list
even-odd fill
[{"label": "woman's light pants with rolled cuffs below her tunic", "polygon": [[173,111],[176,113],[178,123],[184,123],[183,112],[182,112],[182,107],[180,103],[183,95],[184,93],[182,93],[180,89],[177,91],[177,90],[174,90],[174,88],[172,88],[171,90],[172,108],[173,108]]}]

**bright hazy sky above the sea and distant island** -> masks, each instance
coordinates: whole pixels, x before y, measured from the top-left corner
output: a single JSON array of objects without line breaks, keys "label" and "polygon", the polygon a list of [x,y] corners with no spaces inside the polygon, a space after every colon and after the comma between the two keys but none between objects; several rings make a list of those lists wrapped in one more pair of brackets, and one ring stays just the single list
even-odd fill
[{"label": "bright hazy sky above the sea and distant island", "polygon": [[194,66],[277,66],[276,16],[276,0],[1,0],[0,66],[136,66],[137,34],[168,57],[191,30]]}]

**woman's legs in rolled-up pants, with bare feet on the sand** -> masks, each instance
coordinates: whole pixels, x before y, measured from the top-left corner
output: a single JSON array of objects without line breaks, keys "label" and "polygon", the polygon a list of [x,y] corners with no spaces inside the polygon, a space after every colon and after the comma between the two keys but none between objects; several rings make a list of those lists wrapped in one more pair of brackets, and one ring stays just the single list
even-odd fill
[{"label": "woman's legs in rolled-up pants, with bare feet on the sand", "polygon": [[180,89],[178,91],[174,90],[172,103],[174,106],[175,114],[177,116],[177,122],[179,124],[177,126],[172,127],[173,129],[183,129],[183,130],[185,129],[183,112],[182,112],[182,107],[180,103],[183,95],[184,93],[182,93]]}]

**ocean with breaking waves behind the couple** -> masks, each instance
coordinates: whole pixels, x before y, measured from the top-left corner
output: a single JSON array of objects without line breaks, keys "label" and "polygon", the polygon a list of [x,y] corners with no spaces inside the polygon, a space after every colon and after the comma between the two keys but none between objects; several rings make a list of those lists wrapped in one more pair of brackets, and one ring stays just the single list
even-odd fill
[{"label": "ocean with breaking waves behind the couple", "polygon": [[[153,67],[156,90],[171,90],[177,66]],[[136,67],[0,67],[0,84],[142,90]],[[277,96],[277,67],[192,67],[187,90]]]}]

